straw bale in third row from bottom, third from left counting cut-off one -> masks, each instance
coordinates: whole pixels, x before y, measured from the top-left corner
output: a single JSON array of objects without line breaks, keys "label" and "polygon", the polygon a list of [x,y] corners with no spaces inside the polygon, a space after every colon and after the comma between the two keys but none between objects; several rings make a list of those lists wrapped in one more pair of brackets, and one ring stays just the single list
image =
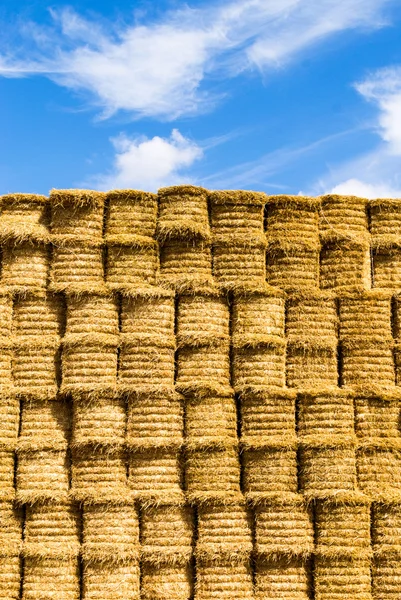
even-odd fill
[{"label": "straw bale in third row from bottom, third from left counting cut-off one", "polygon": [[128,497],[127,461],[119,448],[72,452],[71,496],[79,502],[122,502]]}]

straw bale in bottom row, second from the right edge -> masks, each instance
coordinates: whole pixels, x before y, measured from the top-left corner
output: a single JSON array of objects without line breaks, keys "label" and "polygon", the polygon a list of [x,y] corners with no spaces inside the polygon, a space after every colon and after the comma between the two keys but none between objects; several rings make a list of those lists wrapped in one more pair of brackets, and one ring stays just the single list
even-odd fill
[{"label": "straw bale in bottom row, second from the right edge", "polygon": [[372,600],[370,561],[316,557],[314,590],[316,600]]}]

